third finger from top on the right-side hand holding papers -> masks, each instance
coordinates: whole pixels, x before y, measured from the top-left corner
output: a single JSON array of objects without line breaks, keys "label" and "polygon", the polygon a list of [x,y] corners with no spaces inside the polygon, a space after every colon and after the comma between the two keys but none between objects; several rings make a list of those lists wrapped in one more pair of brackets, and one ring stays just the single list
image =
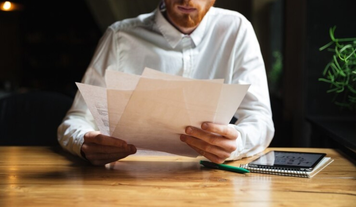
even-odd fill
[{"label": "third finger from top on the right-side hand holding papers", "polygon": [[194,146],[204,152],[208,152],[211,154],[216,155],[217,157],[221,158],[228,158],[230,157],[230,153],[226,152],[223,148],[215,146],[215,145],[210,145],[209,143],[200,140],[195,137],[191,137],[188,135],[180,135],[180,140],[187,143],[190,146]]}]

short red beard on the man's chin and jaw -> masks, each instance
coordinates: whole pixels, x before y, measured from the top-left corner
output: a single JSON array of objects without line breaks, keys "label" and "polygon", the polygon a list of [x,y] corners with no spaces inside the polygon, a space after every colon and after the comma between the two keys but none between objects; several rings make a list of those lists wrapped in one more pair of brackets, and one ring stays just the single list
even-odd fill
[{"label": "short red beard on the man's chin and jaw", "polygon": [[[180,27],[191,28],[197,26],[205,14],[209,11],[210,7],[214,5],[215,0],[211,0],[205,8],[201,8],[199,4],[194,4],[191,0],[181,0],[173,2],[171,5],[166,4],[166,9],[171,21]],[[177,13],[174,8],[176,6],[189,6],[197,9],[198,13]]]}]

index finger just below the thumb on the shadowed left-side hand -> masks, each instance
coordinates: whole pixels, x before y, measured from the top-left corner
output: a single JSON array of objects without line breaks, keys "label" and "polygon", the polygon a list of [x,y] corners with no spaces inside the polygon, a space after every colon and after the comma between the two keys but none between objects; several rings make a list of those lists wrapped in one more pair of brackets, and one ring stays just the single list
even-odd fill
[{"label": "index finger just below the thumb on the shadowed left-side hand", "polygon": [[127,145],[126,147],[115,147],[98,145],[96,143],[83,143],[82,151],[85,154],[88,153],[122,153],[122,152],[136,152],[136,147],[133,145]]}]

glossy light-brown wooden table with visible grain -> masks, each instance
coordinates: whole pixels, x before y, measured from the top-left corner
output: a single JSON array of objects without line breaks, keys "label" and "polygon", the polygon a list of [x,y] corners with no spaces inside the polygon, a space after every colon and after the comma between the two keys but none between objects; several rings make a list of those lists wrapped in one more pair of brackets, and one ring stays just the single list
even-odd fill
[{"label": "glossy light-brown wooden table with visible grain", "polygon": [[[313,178],[207,169],[198,158],[130,156],[105,167],[51,147],[0,147],[0,206],[356,206],[356,167],[335,161]],[[257,156],[229,164],[239,166]]]}]

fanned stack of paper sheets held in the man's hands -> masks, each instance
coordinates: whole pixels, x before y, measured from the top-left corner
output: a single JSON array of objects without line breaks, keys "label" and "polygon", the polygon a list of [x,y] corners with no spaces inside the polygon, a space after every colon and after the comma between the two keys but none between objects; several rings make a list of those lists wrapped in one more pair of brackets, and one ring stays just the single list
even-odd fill
[{"label": "fanned stack of paper sheets held in the man's hands", "polygon": [[198,156],[180,141],[185,127],[229,124],[250,85],[195,80],[145,68],[141,76],[106,70],[106,88],[77,83],[102,134],[137,148]]}]

